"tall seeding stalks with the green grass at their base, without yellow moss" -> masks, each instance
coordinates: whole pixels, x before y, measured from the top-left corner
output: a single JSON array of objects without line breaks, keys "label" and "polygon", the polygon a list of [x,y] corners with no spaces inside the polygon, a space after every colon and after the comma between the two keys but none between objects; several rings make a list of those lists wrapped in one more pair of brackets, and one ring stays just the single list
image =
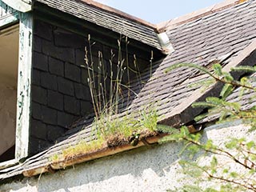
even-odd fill
[{"label": "tall seeding stalks with the green grass at their base, without yellow moss", "polygon": [[[98,137],[104,139],[112,137],[114,134],[121,138],[127,138],[135,132],[143,129],[154,131],[156,127],[157,114],[152,111],[137,111],[137,114],[122,114],[119,112],[127,107],[130,99],[130,93],[136,93],[130,87],[130,62],[128,54],[128,38],[120,37],[118,39],[118,61],[114,61],[114,51],[110,51],[110,59],[108,62],[104,60],[102,52],[98,51],[98,63],[94,63],[92,55],[92,46],[88,37],[89,47],[86,50],[86,68],[88,71],[88,85],[94,105],[95,120],[93,129]],[[126,56],[122,58],[122,42],[125,42]],[[90,54],[88,56],[88,54]],[[150,58],[150,68],[152,67],[153,54]],[[142,82],[140,69],[134,55],[134,78]],[[106,65],[109,65],[107,67]],[[97,69],[97,70],[95,70]],[[152,71],[150,70],[150,74]],[[126,78],[128,82],[123,82]],[[126,94],[123,93],[126,90]],[[124,105],[124,102],[127,102]],[[130,112],[129,112],[130,113]],[[148,116],[148,117],[147,117]],[[152,122],[154,121],[154,122]],[[151,125],[151,126],[150,126]],[[95,134],[95,133],[94,133]],[[111,136],[112,135],[112,136]]]}]

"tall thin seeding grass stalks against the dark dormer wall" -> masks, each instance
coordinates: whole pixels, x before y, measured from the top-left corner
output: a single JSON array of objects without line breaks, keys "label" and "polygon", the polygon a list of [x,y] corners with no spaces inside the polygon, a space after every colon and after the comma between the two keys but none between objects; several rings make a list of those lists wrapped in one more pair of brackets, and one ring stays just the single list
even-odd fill
[{"label": "tall thin seeding grass stalks against the dark dormer wall", "polygon": [[[86,68],[88,71],[88,85],[90,87],[90,94],[94,106],[94,113],[96,118],[100,117],[100,114],[114,115],[118,114],[118,104],[122,101],[122,78],[127,73],[127,77],[130,76],[129,70],[126,70],[125,62],[129,64],[126,59],[122,59],[121,42],[122,38],[118,40],[118,63],[114,64],[114,52],[110,52],[110,71],[106,70],[106,61],[102,56],[102,52],[98,51],[98,63],[94,66],[92,56],[92,46],[90,42],[90,36],[88,37],[88,50],[85,49],[85,61]],[[88,56],[89,55],[89,56]],[[114,71],[114,65],[116,65],[117,70]],[[97,71],[95,71],[95,68]],[[130,79],[130,78],[129,78]],[[107,85],[108,80],[110,80],[109,85]],[[108,88],[109,86],[109,88]],[[125,85],[126,87],[126,85]],[[129,86],[127,86],[129,87]]]}]

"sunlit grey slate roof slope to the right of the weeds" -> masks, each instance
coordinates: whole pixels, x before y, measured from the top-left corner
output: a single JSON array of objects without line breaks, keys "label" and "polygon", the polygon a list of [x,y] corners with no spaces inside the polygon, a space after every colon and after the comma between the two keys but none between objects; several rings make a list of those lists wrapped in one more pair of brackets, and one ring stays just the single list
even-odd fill
[{"label": "sunlit grey slate roof slope to the right of the weeds", "polygon": [[[223,56],[227,57],[226,63],[236,62],[238,55],[256,38],[255,12],[256,3],[249,1],[166,31],[175,51],[155,64],[152,78],[134,99],[134,108],[145,105],[150,98],[158,102],[158,114],[165,119],[181,113],[182,104],[194,102],[196,98],[198,90],[189,84],[198,77],[194,77],[194,71],[184,68],[165,74],[166,68],[180,62],[206,66]],[[192,100],[188,101],[190,97]]]}]

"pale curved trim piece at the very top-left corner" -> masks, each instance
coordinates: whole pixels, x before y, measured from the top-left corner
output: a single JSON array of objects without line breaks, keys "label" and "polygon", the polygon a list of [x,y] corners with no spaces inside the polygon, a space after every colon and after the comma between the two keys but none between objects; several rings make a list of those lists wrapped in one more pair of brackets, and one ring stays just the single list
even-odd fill
[{"label": "pale curved trim piece at the very top-left corner", "polygon": [[7,6],[10,6],[14,10],[18,10],[22,13],[32,10],[30,0],[2,0]]}]

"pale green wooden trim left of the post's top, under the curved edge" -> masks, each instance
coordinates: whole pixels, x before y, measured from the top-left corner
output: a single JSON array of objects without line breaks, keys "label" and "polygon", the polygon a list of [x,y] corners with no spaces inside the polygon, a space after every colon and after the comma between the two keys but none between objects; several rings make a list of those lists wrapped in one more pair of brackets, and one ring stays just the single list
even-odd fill
[{"label": "pale green wooden trim left of the post's top, under the curved edge", "polygon": [[18,22],[19,14],[0,0],[0,29]]}]

